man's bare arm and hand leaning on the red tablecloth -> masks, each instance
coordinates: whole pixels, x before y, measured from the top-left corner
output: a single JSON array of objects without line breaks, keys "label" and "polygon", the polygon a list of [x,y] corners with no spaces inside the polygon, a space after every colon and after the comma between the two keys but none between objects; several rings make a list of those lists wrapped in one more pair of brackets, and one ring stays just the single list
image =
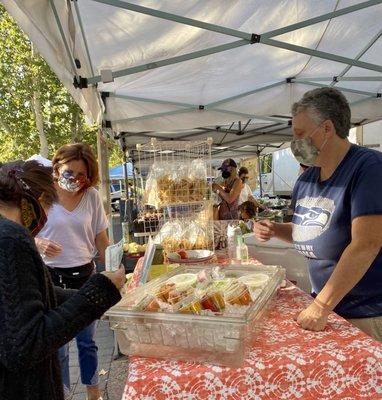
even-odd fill
[{"label": "man's bare arm and hand leaning on the red tablecloth", "polygon": [[[332,275],[317,295],[316,303],[304,310],[298,323],[305,329],[321,330],[327,315],[365,275],[382,247],[382,215],[355,218],[352,240],[341,255]],[[319,329],[320,328],[320,329]]]}]

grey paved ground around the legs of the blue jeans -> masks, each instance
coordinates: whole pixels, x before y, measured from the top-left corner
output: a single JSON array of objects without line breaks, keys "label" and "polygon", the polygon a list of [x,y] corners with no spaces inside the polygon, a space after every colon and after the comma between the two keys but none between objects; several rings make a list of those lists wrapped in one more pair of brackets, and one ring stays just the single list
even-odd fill
[{"label": "grey paved ground around the legs of the blue jeans", "polygon": [[[104,400],[121,400],[127,376],[128,360],[122,356],[114,359],[113,332],[105,321],[99,321],[96,333],[98,346],[99,380]],[[71,400],[86,400],[86,388],[81,384],[77,346],[70,343]]]}]

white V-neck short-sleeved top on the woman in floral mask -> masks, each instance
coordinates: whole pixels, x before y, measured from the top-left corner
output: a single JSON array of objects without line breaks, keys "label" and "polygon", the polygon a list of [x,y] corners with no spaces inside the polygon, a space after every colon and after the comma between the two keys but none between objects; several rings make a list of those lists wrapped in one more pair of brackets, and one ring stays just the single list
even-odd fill
[{"label": "white V-neck short-sleeved top on the woman in floral mask", "polygon": [[55,268],[88,264],[97,253],[96,236],[107,227],[101,198],[94,188],[85,191],[73,211],[54,204],[49,209],[47,223],[37,237],[61,244],[62,251],[56,257],[44,256],[45,264]]}]

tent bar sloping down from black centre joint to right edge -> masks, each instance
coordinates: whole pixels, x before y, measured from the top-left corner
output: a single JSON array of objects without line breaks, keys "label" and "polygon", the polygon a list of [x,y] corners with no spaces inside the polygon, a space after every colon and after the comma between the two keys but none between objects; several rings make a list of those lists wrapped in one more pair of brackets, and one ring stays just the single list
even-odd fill
[{"label": "tent bar sloping down from black centre joint to right edge", "polygon": [[294,51],[296,53],[307,54],[309,56],[323,58],[325,60],[336,61],[343,64],[352,65],[359,68],[369,69],[371,71],[382,72],[382,66],[377,64],[366,63],[363,61],[354,60],[348,57],[338,56],[336,54],[326,53],[324,51],[308,49],[307,47],[296,46],[294,44],[280,42],[279,40],[268,39],[260,37],[260,43],[267,44],[269,46],[278,47],[280,49]]}]

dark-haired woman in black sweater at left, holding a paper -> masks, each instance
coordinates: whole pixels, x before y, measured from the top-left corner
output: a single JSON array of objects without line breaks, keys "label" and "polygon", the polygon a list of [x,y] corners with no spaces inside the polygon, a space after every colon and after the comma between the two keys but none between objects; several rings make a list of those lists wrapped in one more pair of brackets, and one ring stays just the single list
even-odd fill
[{"label": "dark-haired woman in black sweater at left, holding a paper", "polygon": [[49,168],[0,165],[1,400],[63,400],[57,350],[120,299],[123,269],[78,291],[52,285],[32,235],[55,200]]}]

